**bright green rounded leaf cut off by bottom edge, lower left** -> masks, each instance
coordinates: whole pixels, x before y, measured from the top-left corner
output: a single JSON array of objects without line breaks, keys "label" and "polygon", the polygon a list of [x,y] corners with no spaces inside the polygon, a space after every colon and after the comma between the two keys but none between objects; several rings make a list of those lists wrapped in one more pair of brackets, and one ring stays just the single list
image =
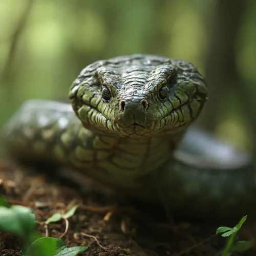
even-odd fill
[{"label": "bright green rounded leaf cut off by bottom edge, lower left", "polygon": [[39,238],[34,241],[28,248],[24,256],[55,256],[67,246],[66,244],[56,238],[46,237]]}]

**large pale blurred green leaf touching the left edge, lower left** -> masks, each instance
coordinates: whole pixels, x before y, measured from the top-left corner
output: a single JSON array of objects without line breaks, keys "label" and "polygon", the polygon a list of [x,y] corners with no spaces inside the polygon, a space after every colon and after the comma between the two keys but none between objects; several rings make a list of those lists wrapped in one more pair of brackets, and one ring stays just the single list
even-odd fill
[{"label": "large pale blurred green leaf touching the left edge, lower left", "polygon": [[21,238],[30,236],[35,225],[35,215],[32,210],[22,205],[10,208],[0,206],[0,230],[12,232]]}]

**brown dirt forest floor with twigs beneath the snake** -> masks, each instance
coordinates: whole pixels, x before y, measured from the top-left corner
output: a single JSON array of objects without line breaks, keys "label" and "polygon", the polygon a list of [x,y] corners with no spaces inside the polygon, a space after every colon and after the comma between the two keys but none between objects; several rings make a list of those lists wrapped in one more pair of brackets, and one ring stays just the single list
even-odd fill
[{"label": "brown dirt forest floor with twigs beneath the snake", "polygon": [[[0,160],[0,194],[10,204],[31,207],[42,236],[61,238],[68,246],[88,246],[81,255],[213,256],[225,244],[224,238],[215,235],[218,225],[180,222],[173,226],[159,207],[121,201],[89,180],[84,187],[88,189],[81,192],[68,181]],[[66,212],[73,205],[79,207],[68,222],[45,225],[54,212]],[[254,223],[246,223],[239,232],[239,240],[255,237]],[[20,249],[18,238],[0,233],[1,255],[21,255]],[[256,255],[256,250],[252,248],[243,255]]]}]

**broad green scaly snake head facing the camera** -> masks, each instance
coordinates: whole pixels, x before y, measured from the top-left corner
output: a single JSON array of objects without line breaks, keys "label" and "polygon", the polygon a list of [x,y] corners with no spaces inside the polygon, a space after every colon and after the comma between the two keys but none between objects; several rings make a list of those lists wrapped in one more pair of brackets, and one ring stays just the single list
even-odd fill
[{"label": "broad green scaly snake head facing the camera", "polygon": [[207,88],[189,62],[137,54],[84,68],[69,98],[87,129],[150,136],[186,129],[200,114]]}]

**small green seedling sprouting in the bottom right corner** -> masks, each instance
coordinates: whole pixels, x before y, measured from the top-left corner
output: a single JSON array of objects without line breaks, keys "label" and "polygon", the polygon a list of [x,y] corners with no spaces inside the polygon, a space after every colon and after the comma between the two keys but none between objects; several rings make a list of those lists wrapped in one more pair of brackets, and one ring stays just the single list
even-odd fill
[{"label": "small green seedling sprouting in the bottom right corner", "polygon": [[228,237],[226,245],[222,251],[222,256],[229,256],[232,254],[232,252],[244,252],[248,250],[253,242],[252,241],[237,241],[234,242],[236,238],[236,234],[238,230],[242,227],[243,223],[246,221],[247,216],[244,216],[240,222],[234,226],[233,228],[231,227],[219,227],[216,230],[216,233],[223,233],[221,236],[222,237]]}]

